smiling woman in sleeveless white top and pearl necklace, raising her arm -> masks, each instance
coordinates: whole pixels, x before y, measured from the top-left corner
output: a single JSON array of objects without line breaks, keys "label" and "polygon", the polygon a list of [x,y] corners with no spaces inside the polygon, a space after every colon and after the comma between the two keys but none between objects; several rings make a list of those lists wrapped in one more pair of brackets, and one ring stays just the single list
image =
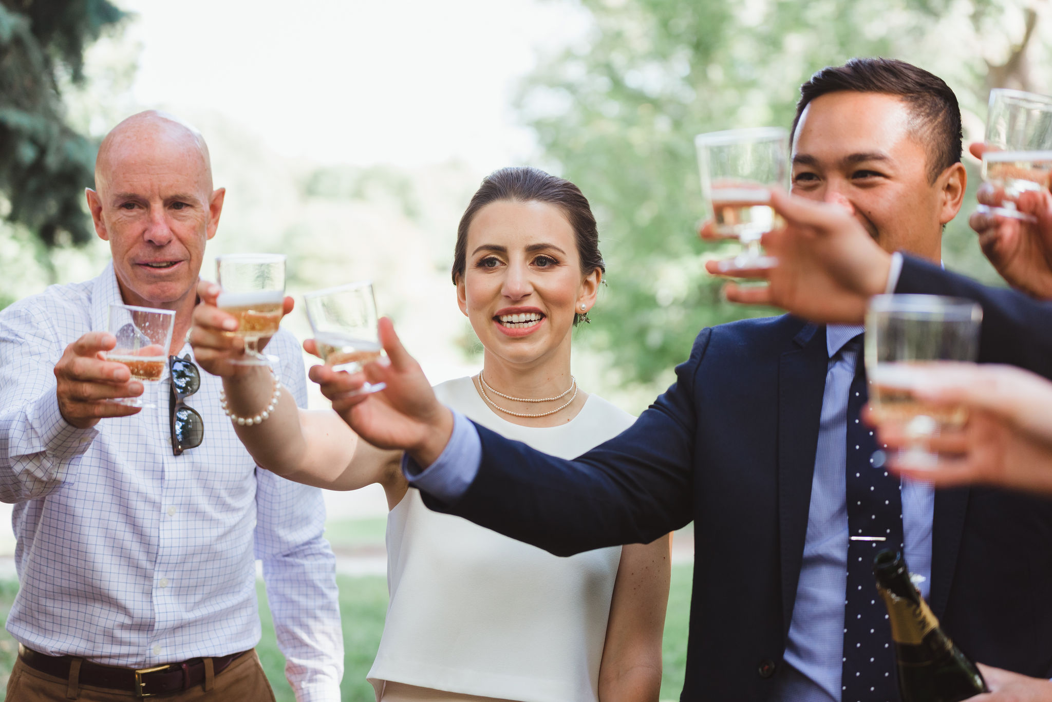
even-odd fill
[{"label": "smiling woman in sleeveless white top and pearl necklace, raising her arm", "polygon": [[[458,421],[565,458],[627,428],[634,418],[570,375],[573,324],[595,304],[603,273],[595,219],[573,183],[535,168],[487,177],[461,219],[452,266],[484,365],[434,395],[462,414]],[[272,381],[224,365],[240,348],[220,333],[228,317],[215,306],[216,292],[199,288],[191,343],[199,363],[224,376],[231,410],[256,412]],[[412,362],[389,322],[381,336],[392,365]],[[341,412],[356,376],[325,366],[310,374]],[[381,392],[361,406],[382,413],[384,403]],[[265,426],[235,429],[260,466],[291,480],[330,489],[383,485],[390,605],[368,675],[378,700],[656,699],[667,536],[552,556],[427,509],[401,470],[401,452],[358,442],[341,419],[299,410],[283,395]]]}]

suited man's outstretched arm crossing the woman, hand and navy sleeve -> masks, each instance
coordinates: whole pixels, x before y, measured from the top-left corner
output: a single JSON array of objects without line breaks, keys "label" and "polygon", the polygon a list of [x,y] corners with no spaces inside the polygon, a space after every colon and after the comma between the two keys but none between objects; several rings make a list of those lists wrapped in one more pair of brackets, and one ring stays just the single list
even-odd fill
[{"label": "suited man's outstretched arm crossing the woman, hand and navy sleeve", "polygon": [[454,419],[386,320],[381,337],[390,363],[370,364],[366,375],[387,389],[353,395],[363,374],[316,366],[311,377],[359,436],[409,454],[406,475],[428,506],[567,556],[647,543],[692,519],[694,376],[709,334],[676,368],[675,384],[631,427],[573,461]]}]

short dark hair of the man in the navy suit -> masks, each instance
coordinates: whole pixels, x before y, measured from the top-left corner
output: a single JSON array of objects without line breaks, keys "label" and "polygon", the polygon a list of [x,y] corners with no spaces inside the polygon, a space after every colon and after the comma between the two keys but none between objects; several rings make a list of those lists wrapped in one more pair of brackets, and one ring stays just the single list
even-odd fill
[{"label": "short dark hair of the man in the navy suit", "polygon": [[928,176],[938,175],[960,161],[960,107],[957,96],[938,76],[895,59],[851,59],[842,66],[827,66],[800,86],[800,102],[792,132],[804,108],[827,93],[882,93],[902,98],[913,114],[911,125],[928,147]]}]

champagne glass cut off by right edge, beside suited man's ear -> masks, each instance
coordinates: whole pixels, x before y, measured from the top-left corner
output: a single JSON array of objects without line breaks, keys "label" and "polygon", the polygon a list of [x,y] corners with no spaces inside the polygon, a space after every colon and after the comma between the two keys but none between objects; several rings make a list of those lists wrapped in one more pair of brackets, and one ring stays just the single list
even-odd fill
[{"label": "champagne glass cut off by right edge, beside suited man's ear", "polygon": [[1052,184],[1052,97],[990,91],[986,144],[983,180],[996,188],[1000,204],[977,209],[1035,221],[1016,208],[1015,199],[1026,190],[1048,189]]}]

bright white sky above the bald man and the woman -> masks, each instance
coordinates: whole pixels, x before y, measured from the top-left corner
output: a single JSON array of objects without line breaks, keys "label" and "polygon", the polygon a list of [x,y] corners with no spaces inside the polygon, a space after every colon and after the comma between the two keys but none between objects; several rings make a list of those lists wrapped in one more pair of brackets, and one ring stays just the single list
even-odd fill
[{"label": "bright white sky above the bald man and the woman", "polygon": [[118,0],[142,105],[215,109],[287,156],[481,172],[533,153],[510,103],[580,39],[574,0]]}]

